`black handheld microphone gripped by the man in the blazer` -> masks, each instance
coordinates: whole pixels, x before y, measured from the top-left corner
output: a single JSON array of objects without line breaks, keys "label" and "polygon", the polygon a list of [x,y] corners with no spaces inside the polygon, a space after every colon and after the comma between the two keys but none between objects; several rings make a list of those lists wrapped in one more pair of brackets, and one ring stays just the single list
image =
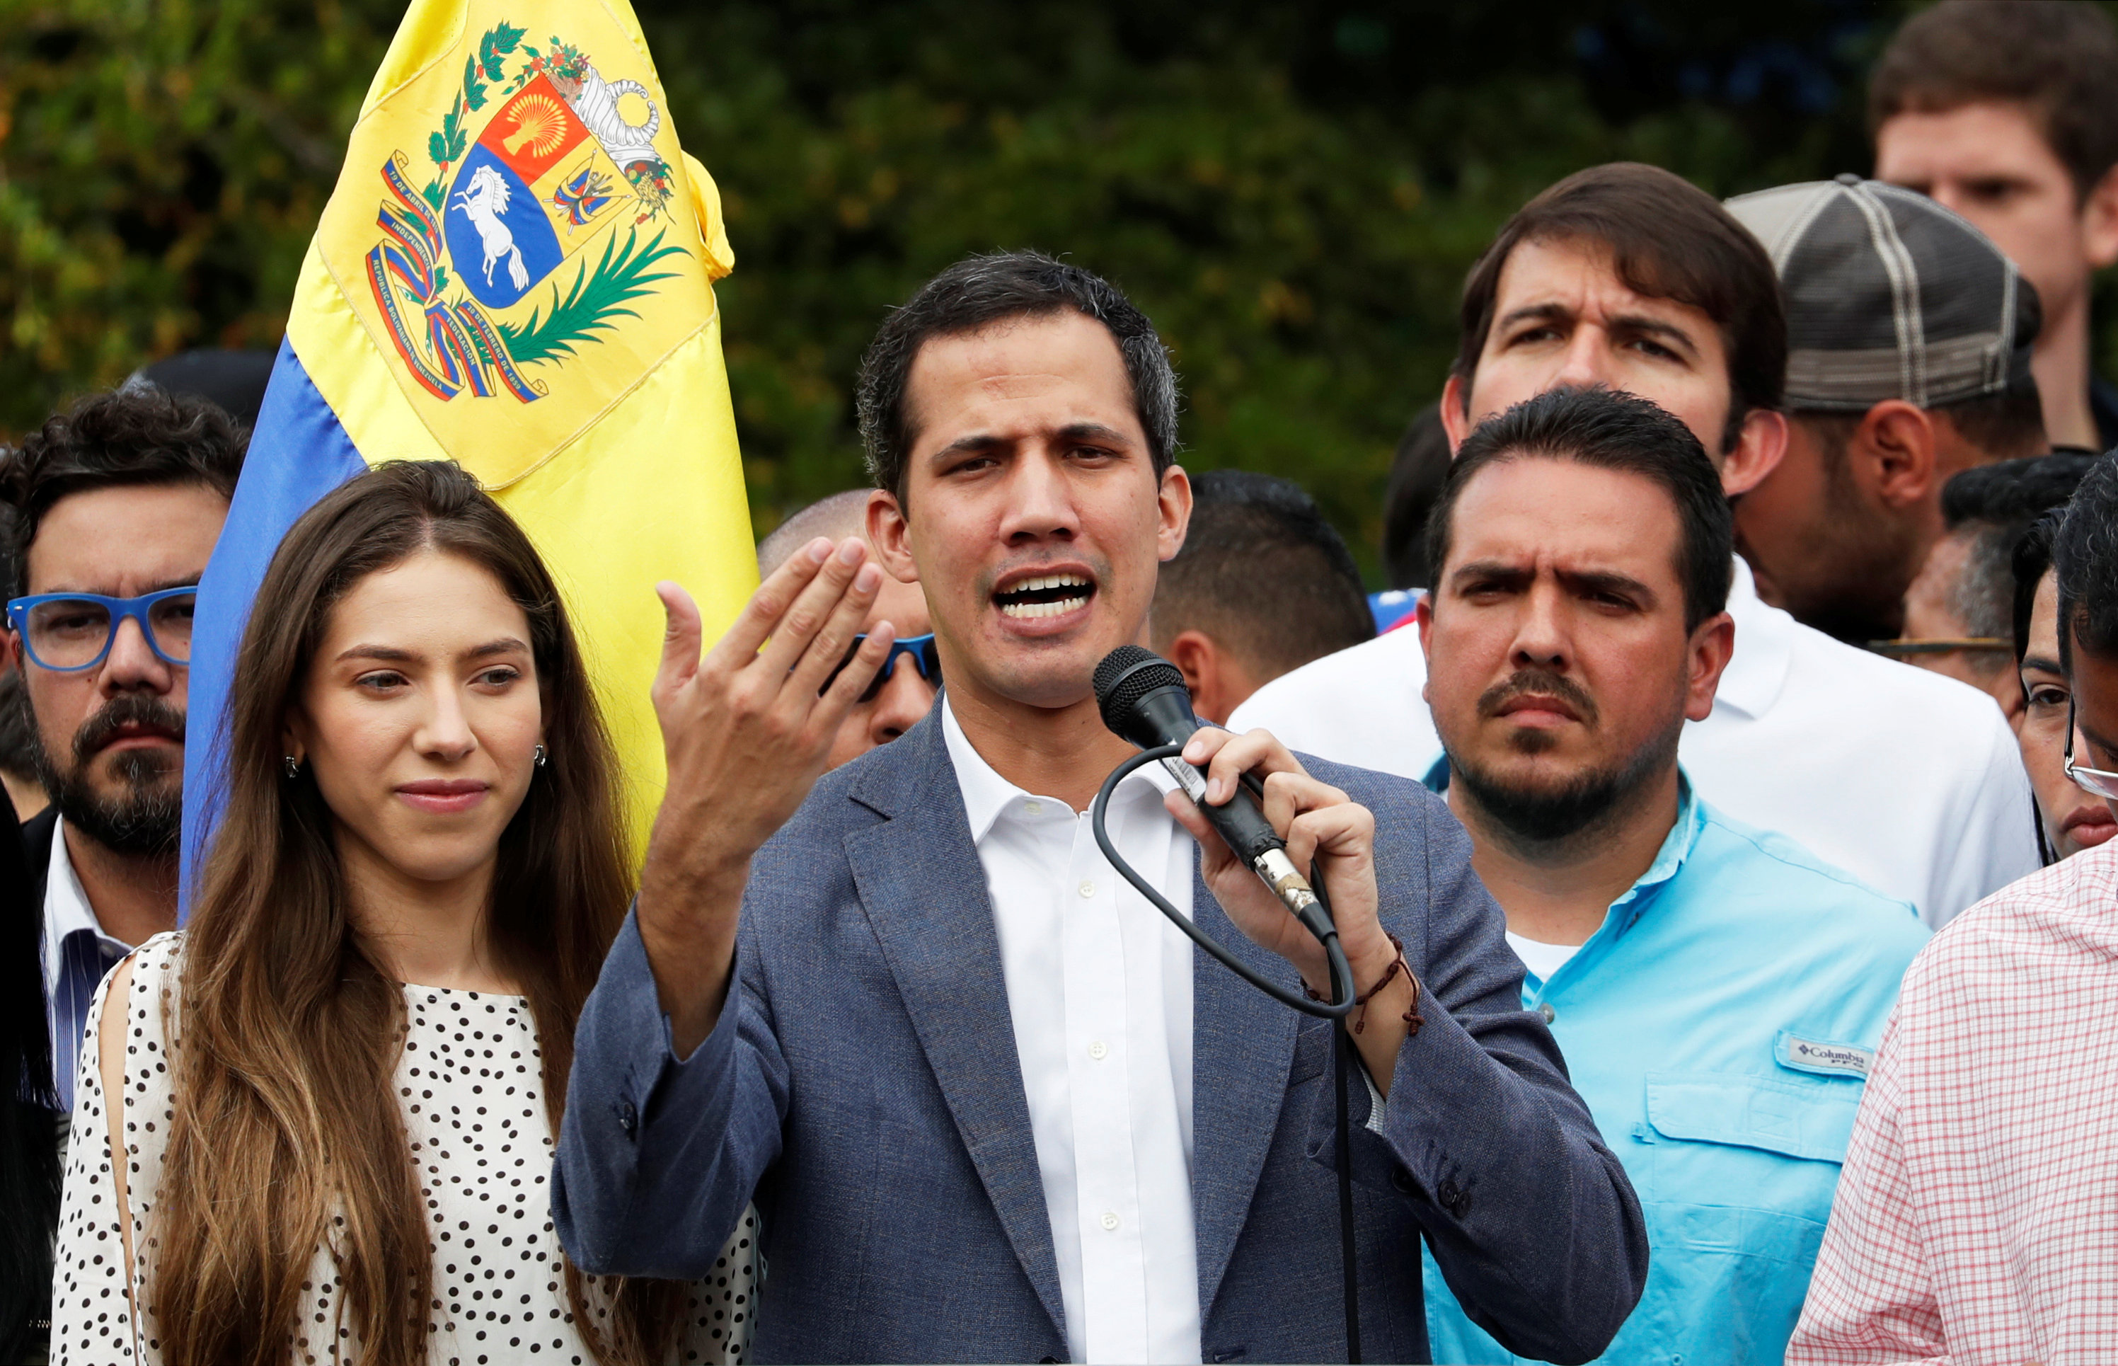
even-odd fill
[{"label": "black handheld microphone gripped by the man in the blazer", "polygon": [[[1142,646],[1118,646],[1103,657],[1103,663],[1095,667],[1095,703],[1103,712],[1103,724],[1142,750],[1182,745],[1201,729],[1190,709],[1190,688],[1184,686],[1184,673]],[[1245,773],[1235,796],[1214,807],[1205,801],[1205,775],[1199,769],[1182,758],[1165,758],[1163,769],[1178,779],[1207,824],[1228,841],[1237,858],[1264,879],[1264,885],[1294,919],[1303,921],[1317,938],[1332,932],[1330,913],[1317,902],[1309,879],[1288,858],[1288,841],[1279,839],[1273,822],[1264,820],[1264,811],[1258,807],[1262,788],[1254,777]]]}]

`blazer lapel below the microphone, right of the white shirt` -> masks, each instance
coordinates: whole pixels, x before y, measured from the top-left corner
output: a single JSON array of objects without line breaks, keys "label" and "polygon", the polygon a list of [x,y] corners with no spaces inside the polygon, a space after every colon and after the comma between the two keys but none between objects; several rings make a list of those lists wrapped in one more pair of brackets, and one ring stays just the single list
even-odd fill
[{"label": "blazer lapel below the microphone, right of the white shirt", "polygon": [[[1192,921],[1271,981],[1300,989],[1300,974],[1260,949],[1220,909],[1205,879],[1192,875]],[[1199,1313],[1207,1315],[1264,1152],[1279,1127],[1294,1070],[1300,1017],[1237,974],[1192,951],[1192,1220],[1199,1228]]]}]

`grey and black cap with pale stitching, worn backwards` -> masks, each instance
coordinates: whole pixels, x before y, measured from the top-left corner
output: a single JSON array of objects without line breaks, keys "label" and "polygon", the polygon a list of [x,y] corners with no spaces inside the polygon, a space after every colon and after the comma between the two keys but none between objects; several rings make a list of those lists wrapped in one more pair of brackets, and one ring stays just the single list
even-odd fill
[{"label": "grey and black cap with pale stitching, worn backwards", "polygon": [[2027,388],[2038,290],[1925,195],[1841,176],[1737,195],[1788,296],[1788,409],[1923,409]]}]

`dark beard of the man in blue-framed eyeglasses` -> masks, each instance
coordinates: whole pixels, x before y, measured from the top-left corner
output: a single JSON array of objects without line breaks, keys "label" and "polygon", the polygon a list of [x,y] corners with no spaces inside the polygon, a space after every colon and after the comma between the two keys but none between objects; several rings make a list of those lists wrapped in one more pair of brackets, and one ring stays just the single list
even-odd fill
[{"label": "dark beard of the man in blue-framed eyeglasses", "polygon": [[[28,693],[23,695],[28,705]],[[127,750],[112,756],[121,784],[116,796],[95,792],[87,767],[112,731],[127,724],[150,724],[184,735],[184,714],[159,697],[116,697],[91,716],[74,735],[74,762],[59,769],[44,748],[42,731],[32,722],[30,758],[36,777],[51,794],[51,805],[74,830],[80,830],[112,853],[129,858],[174,858],[184,824],[184,777],[169,773],[161,754]],[[174,779],[174,781],[172,781]]]}]

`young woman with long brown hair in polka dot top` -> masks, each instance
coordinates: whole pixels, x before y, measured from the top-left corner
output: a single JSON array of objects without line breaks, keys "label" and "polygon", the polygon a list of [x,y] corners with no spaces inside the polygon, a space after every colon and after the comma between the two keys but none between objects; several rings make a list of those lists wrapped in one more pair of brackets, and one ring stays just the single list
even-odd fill
[{"label": "young woman with long brown hair in polka dot top", "polygon": [[582,1277],[551,1230],[574,1023],[631,879],[523,532],[453,464],[354,479],[273,557],[231,697],[191,923],[91,1023],[53,1360],[739,1353],[754,1237],[686,1286]]}]

